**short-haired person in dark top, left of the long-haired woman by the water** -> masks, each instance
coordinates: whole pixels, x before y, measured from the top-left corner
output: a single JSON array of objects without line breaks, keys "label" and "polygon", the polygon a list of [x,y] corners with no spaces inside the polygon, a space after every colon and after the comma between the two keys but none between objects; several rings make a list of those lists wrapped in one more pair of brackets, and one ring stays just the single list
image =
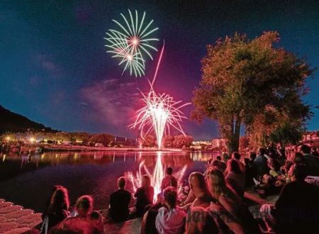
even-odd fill
[{"label": "short-haired person in dark top, left of the long-haired woman by the water", "polygon": [[125,190],[126,180],[124,177],[118,178],[118,191],[110,196],[110,208],[108,213],[116,223],[124,222],[128,219],[130,213],[128,205],[130,204],[131,194]]}]

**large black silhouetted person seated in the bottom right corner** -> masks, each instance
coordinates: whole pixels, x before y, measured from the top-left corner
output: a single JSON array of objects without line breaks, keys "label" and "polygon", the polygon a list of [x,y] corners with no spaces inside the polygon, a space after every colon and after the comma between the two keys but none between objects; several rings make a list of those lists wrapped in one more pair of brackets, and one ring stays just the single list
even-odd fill
[{"label": "large black silhouetted person seated in the bottom right corner", "polygon": [[318,187],[305,182],[305,165],[293,168],[292,182],[281,190],[276,204],[263,205],[260,211],[278,233],[318,233]]}]

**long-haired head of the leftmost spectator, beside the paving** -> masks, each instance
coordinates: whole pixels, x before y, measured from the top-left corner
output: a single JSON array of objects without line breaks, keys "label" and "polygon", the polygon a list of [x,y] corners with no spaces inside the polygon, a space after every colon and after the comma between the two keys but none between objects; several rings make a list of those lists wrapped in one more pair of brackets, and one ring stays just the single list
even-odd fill
[{"label": "long-haired head of the leftmost spectator, beside the paving", "polygon": [[67,192],[67,189],[61,185],[57,186],[53,192],[48,211],[50,213],[60,209],[69,209],[69,193]]}]

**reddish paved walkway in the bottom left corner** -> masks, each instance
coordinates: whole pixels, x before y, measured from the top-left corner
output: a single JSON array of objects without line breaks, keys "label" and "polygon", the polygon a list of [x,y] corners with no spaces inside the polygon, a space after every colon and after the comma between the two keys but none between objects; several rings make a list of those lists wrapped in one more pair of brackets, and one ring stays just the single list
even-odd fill
[{"label": "reddish paved walkway in the bottom left corner", "polygon": [[41,221],[41,213],[0,199],[0,233],[25,233]]}]

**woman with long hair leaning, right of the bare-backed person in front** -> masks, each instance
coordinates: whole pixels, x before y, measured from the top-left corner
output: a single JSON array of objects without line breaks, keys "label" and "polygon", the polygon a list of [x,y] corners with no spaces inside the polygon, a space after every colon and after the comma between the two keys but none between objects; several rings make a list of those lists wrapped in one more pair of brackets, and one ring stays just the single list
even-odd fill
[{"label": "woman with long hair leaning, right of the bare-backed person in front", "polygon": [[[250,210],[242,203],[242,199],[227,186],[223,172],[219,169],[211,169],[207,174],[207,181],[208,189],[218,203],[211,204],[211,212],[222,216],[223,212],[221,211],[225,211],[237,221],[237,223],[240,223],[244,233],[260,233]],[[233,230],[232,227],[230,227],[230,229]],[[235,233],[237,232],[235,231]]]}]

